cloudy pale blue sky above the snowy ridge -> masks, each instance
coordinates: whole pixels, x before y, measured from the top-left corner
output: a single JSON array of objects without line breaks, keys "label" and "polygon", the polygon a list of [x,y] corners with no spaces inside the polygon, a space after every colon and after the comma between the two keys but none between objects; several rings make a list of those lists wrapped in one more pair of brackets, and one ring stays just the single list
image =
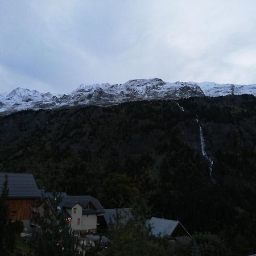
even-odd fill
[{"label": "cloudy pale blue sky above the snowy ridge", "polygon": [[256,83],[256,0],[0,0],[0,93]]}]

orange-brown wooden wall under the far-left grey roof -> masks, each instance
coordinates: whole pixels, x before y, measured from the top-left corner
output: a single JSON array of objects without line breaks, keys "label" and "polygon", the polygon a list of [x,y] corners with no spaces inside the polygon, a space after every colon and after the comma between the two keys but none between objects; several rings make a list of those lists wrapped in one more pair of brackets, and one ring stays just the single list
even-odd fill
[{"label": "orange-brown wooden wall under the far-left grey roof", "polygon": [[9,218],[11,220],[31,220],[32,204],[39,199],[9,199],[6,203],[9,205]]}]

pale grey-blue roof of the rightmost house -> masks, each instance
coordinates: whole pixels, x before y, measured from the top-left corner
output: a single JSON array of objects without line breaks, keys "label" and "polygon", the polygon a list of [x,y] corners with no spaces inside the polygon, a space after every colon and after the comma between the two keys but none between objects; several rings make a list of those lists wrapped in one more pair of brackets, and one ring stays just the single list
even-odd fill
[{"label": "pale grey-blue roof of the rightmost house", "polygon": [[181,228],[184,229],[185,233],[187,233],[188,236],[191,237],[190,234],[187,232],[184,226],[181,225],[179,221],[152,217],[150,221],[148,221],[148,224],[151,225],[152,227],[151,233],[154,236],[160,236],[160,237],[171,236],[171,234],[174,233],[174,230],[177,228],[177,226],[180,225]]}]

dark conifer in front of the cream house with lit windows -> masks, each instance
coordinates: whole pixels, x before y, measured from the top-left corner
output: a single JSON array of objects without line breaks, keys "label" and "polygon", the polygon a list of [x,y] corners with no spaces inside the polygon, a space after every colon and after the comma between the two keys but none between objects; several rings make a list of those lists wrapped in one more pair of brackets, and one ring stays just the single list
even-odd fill
[{"label": "dark conifer in front of the cream house with lit windows", "polygon": [[58,209],[61,197],[53,195],[51,204],[44,205],[44,216],[39,220],[41,230],[34,233],[36,256],[80,255],[79,241],[73,236],[67,216]]}]

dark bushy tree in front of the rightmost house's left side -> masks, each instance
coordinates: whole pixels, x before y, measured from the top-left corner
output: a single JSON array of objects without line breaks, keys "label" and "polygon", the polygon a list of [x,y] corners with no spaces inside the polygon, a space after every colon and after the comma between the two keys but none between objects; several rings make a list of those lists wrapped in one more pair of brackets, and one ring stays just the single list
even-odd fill
[{"label": "dark bushy tree in front of the rightmost house's left side", "polygon": [[[139,204],[137,204],[137,200],[140,201]],[[170,246],[163,246],[158,239],[151,237],[151,228],[146,225],[149,209],[141,197],[138,196],[137,200],[133,203],[133,216],[125,224],[122,223],[122,219],[125,218],[123,213],[117,216],[115,224],[109,230],[108,244],[92,249],[94,252],[97,250],[99,255],[104,256],[173,255]]]}]

